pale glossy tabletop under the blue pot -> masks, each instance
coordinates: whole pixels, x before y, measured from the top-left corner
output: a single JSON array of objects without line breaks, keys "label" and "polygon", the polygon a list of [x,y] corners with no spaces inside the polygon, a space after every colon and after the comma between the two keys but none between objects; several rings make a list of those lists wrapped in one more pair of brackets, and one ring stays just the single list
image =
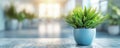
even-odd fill
[{"label": "pale glossy tabletop under the blue pot", "polygon": [[77,46],[72,38],[0,38],[0,48],[119,48],[118,38],[96,38],[91,46]]}]

